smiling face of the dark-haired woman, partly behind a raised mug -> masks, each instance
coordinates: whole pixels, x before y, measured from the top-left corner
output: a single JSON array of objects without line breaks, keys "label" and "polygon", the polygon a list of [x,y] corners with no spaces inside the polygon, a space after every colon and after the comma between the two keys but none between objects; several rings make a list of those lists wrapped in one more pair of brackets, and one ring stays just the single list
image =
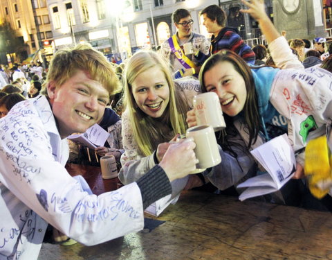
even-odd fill
[{"label": "smiling face of the dark-haired woman, partly behind a raised mug", "polygon": [[217,62],[204,73],[207,92],[216,92],[221,108],[228,116],[236,116],[246,103],[246,83],[230,62]]}]

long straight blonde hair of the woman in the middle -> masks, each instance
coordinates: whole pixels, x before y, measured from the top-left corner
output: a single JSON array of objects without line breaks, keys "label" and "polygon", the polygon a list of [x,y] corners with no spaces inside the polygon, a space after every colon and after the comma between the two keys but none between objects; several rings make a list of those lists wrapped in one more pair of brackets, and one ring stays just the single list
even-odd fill
[{"label": "long straight blonde hair of the woman in the middle", "polygon": [[[131,85],[136,77],[152,67],[158,67],[163,71],[169,86],[169,103],[161,120],[156,120],[142,112],[136,105],[132,93]],[[133,137],[143,155],[151,155],[159,143],[169,141],[169,137],[172,138],[172,135],[185,132],[187,127],[185,114],[189,110],[189,106],[180,94],[176,94],[167,63],[157,53],[153,51],[139,51],[134,54],[126,64],[123,79],[124,107],[126,107],[129,114]]]}]

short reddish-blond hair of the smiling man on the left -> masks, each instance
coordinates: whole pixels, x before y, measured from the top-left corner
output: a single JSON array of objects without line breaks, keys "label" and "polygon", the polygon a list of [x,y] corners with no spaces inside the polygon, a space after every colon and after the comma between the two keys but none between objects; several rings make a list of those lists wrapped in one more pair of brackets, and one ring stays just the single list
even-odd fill
[{"label": "short reddish-blond hair of the smiling man on the left", "polygon": [[90,44],[77,44],[73,49],[62,49],[55,53],[50,62],[42,94],[47,95],[46,85],[54,81],[60,87],[78,70],[86,71],[93,80],[101,83],[109,95],[120,92],[120,84],[110,62]]}]

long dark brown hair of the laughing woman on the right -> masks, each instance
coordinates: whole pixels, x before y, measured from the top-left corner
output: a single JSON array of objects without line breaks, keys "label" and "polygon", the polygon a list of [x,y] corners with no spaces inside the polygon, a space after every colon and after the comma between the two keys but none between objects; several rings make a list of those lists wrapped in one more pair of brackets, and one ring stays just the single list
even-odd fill
[{"label": "long dark brown hair of the laughing woman on the right", "polygon": [[[207,92],[204,85],[205,72],[212,69],[219,62],[230,62],[234,66],[234,69],[243,77],[243,80],[246,83],[247,97],[246,103],[243,107],[243,114],[245,123],[248,125],[248,148],[250,148],[252,144],[255,144],[260,128],[257,94],[251,69],[246,62],[239,55],[237,55],[237,53],[230,50],[221,50],[208,58],[199,72],[199,81],[201,82],[203,92]],[[227,125],[228,122],[230,123],[232,121],[232,116],[228,116],[227,114],[224,114],[224,116]]]}]

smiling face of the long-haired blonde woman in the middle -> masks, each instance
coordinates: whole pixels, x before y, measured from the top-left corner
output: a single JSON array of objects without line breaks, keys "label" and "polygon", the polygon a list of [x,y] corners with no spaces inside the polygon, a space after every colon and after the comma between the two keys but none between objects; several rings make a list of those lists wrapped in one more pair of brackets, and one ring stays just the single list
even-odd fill
[{"label": "smiling face of the long-haired blonde woman in the middle", "polygon": [[142,112],[155,119],[163,115],[169,103],[169,86],[158,66],[138,74],[131,84],[131,91]]}]

